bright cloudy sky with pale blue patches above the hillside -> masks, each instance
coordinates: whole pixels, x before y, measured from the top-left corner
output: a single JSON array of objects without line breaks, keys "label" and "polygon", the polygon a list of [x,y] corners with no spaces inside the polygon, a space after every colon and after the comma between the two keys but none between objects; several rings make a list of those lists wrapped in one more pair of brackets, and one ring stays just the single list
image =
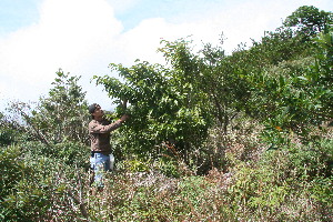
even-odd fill
[{"label": "bright cloudy sky with pale blue patches above the hillside", "polygon": [[[9,101],[47,95],[61,68],[81,75],[89,103],[111,109],[93,75],[109,63],[162,63],[161,39],[191,36],[194,43],[231,52],[260,40],[301,6],[332,11],[332,0],[0,0],[0,111]],[[249,44],[248,43],[248,44]]]}]

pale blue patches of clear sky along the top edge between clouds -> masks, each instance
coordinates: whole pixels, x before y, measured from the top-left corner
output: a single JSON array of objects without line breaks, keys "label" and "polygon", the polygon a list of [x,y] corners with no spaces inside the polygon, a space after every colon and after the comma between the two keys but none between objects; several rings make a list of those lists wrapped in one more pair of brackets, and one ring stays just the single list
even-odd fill
[{"label": "pale blue patches of clear sky along the top edge between clouds", "polygon": [[[39,9],[43,0],[1,0],[0,34],[16,31],[39,20]],[[214,7],[225,6],[225,0],[109,0],[114,6],[115,17],[122,21],[124,30],[134,28],[149,18],[167,18],[175,21],[180,17],[204,13]],[[121,3],[119,3],[121,2]],[[223,4],[222,4],[223,3]],[[122,6],[120,6],[122,4]],[[186,14],[186,16],[182,16]],[[180,21],[180,20],[178,20]]]}]

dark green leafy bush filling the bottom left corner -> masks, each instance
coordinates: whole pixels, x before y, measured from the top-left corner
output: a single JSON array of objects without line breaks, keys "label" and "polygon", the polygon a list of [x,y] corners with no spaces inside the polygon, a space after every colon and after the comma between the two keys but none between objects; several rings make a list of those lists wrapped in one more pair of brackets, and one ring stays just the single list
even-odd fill
[{"label": "dark green leafy bush filling the bottom left corner", "polygon": [[24,162],[21,150],[8,147],[1,151],[1,219],[4,221],[32,221],[44,214],[48,201],[41,188],[34,188],[36,172]]}]

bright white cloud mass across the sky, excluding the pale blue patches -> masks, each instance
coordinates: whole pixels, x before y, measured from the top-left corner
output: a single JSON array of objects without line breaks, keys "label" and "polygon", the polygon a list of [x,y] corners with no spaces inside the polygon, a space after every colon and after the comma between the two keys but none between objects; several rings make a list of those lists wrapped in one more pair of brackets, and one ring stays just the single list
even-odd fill
[{"label": "bright white cloud mass across the sky, excluding the pale blue patches", "polygon": [[[135,59],[163,62],[162,54],[157,53],[161,39],[172,41],[191,34],[199,46],[201,40],[216,44],[223,32],[228,38],[224,48],[231,51],[239,43],[249,42],[250,38],[259,40],[264,31],[279,27],[283,18],[307,0],[221,3],[211,11],[188,17],[193,19],[182,18],[176,22],[176,16],[151,18],[125,32],[110,2],[118,1],[44,0],[38,23],[0,39],[0,99],[37,101],[48,92],[54,72],[62,68],[82,75],[89,102],[109,108],[111,101],[102,87],[95,88],[90,79],[93,74],[110,73],[110,62],[124,65]],[[127,0],[123,8],[114,6],[127,10],[135,3],[138,0]]]}]

